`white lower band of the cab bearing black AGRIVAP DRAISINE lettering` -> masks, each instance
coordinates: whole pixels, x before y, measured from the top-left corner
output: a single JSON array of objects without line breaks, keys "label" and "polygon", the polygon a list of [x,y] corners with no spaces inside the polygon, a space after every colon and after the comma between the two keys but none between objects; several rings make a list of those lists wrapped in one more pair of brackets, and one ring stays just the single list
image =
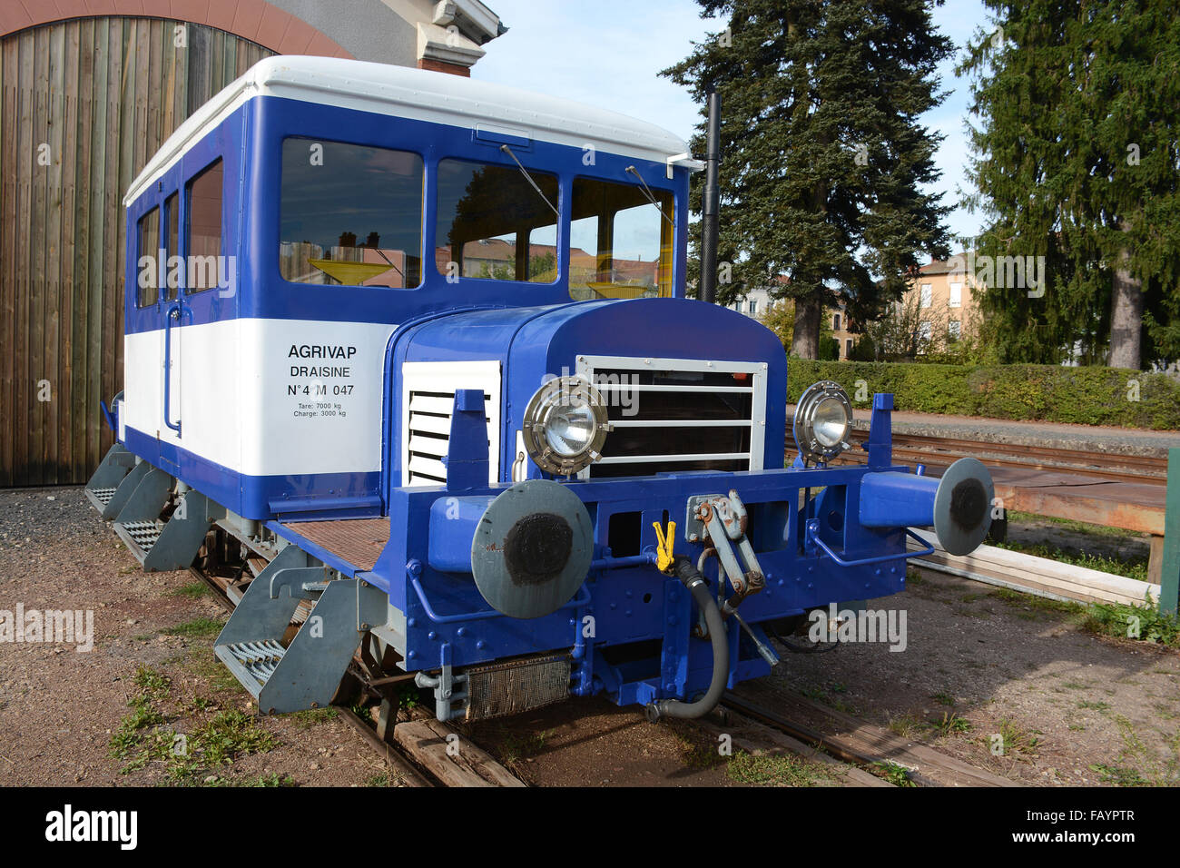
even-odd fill
[{"label": "white lower band of the cab bearing black AGRIVAP DRAISINE lettering", "polygon": [[173,327],[179,436],[164,424],[164,332],[127,334],[120,422],[248,476],[379,471],[395,328],[278,319]]}]

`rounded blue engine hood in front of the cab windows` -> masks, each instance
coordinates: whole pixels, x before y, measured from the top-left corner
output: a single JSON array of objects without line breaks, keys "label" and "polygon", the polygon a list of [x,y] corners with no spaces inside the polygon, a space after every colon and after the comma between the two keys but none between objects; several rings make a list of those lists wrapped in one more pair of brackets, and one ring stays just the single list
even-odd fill
[{"label": "rounded blue engine hood in front of the cab windows", "polygon": [[[516,444],[509,435],[520,428],[529,399],[552,377],[576,374],[579,357],[765,365],[762,466],[782,466],[786,352],[773,332],[728,308],[690,299],[631,299],[458,311],[411,326],[395,340],[399,371],[402,363],[499,364],[498,423],[505,436],[494,439],[502,471],[511,466]],[[509,477],[502,472],[500,478]]]}]

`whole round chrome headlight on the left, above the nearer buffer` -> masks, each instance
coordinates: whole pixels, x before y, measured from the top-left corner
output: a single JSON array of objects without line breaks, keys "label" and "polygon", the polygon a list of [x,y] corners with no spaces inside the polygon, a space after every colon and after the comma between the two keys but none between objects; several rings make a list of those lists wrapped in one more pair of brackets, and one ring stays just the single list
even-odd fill
[{"label": "whole round chrome headlight on the left, above the nearer buffer", "polygon": [[602,396],[578,377],[559,377],[538,389],[520,425],[529,457],[559,476],[598,461],[609,430]]}]

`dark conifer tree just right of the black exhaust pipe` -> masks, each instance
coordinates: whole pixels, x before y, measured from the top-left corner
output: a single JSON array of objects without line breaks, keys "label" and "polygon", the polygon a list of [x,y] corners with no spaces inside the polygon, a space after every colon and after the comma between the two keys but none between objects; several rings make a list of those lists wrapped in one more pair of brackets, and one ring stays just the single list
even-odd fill
[{"label": "dark conifer tree just right of the black exhaust pipe", "polygon": [[[935,67],[952,47],[930,0],[699,2],[727,26],[663,74],[702,106],[710,87],[722,99],[717,301],[767,286],[793,299],[791,351],[813,359],[838,293],[871,320],[919,260],[949,253],[950,209],[927,191],[940,137],[918,118],[943,98]],[[697,213],[702,187],[697,174]]]}]

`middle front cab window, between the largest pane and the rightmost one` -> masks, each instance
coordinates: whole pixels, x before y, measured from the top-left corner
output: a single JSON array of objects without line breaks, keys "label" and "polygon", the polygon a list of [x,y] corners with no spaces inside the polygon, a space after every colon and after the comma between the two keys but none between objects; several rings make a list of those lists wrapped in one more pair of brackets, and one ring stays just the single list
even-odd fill
[{"label": "middle front cab window, between the largest pane and the rightmost one", "polygon": [[[442,159],[434,265],[442,276],[557,280],[557,177],[516,165]],[[551,207],[552,205],[552,207]]]}]

